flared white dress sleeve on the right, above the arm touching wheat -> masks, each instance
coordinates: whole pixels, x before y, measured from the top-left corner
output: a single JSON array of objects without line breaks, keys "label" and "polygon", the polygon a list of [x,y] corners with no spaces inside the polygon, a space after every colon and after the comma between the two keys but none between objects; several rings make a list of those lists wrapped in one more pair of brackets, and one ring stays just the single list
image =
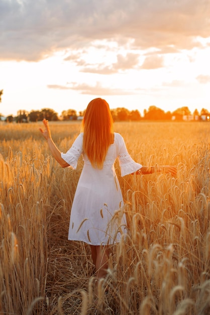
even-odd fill
[{"label": "flared white dress sleeve on the right, above the arm touching wheat", "polygon": [[128,153],[125,141],[122,136],[120,136],[119,141],[119,154],[118,160],[121,168],[121,176],[125,176],[131,173],[134,173],[142,168],[142,165],[136,163],[131,155]]}]

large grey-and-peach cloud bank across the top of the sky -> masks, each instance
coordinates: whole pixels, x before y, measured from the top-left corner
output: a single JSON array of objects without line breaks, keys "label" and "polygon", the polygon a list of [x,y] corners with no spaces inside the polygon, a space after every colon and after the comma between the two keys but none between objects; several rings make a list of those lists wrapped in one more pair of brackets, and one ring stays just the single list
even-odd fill
[{"label": "large grey-and-peach cloud bank across the top of the sky", "polygon": [[191,49],[209,36],[209,16],[207,0],[2,0],[0,58],[38,61],[103,39],[133,50]]}]

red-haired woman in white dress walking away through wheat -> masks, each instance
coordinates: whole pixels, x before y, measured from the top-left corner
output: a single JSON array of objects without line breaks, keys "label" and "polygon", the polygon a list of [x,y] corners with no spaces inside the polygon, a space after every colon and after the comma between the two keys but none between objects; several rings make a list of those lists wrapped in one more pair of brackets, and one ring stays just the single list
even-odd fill
[{"label": "red-haired woman in white dress walking away through wheat", "polygon": [[107,246],[120,242],[127,228],[125,213],[120,210],[123,196],[114,167],[116,159],[120,163],[121,176],[151,174],[155,170],[175,175],[176,167],[144,167],[136,163],[129,155],[123,137],[113,131],[109,104],[100,98],[88,104],[82,132],[66,153],[61,153],[53,142],[48,121],[44,119],[43,123],[45,130],[40,128],[40,131],[61,167],[75,169],[82,154],[84,166],[72,203],[68,239],[90,245],[96,278],[99,279],[106,275],[108,268]]}]

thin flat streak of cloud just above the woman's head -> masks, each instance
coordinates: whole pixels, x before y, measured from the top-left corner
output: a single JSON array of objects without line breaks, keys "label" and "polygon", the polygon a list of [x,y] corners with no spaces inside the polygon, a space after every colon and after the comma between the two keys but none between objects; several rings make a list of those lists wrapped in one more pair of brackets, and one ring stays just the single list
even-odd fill
[{"label": "thin flat streak of cloud just above the woman's head", "polygon": [[134,90],[122,90],[122,89],[112,89],[112,88],[104,88],[101,86],[99,82],[96,82],[94,86],[90,86],[86,83],[78,84],[75,82],[67,83],[67,86],[60,85],[48,85],[49,89],[59,89],[59,90],[76,90],[81,94],[86,95],[131,95],[134,94]]}]

